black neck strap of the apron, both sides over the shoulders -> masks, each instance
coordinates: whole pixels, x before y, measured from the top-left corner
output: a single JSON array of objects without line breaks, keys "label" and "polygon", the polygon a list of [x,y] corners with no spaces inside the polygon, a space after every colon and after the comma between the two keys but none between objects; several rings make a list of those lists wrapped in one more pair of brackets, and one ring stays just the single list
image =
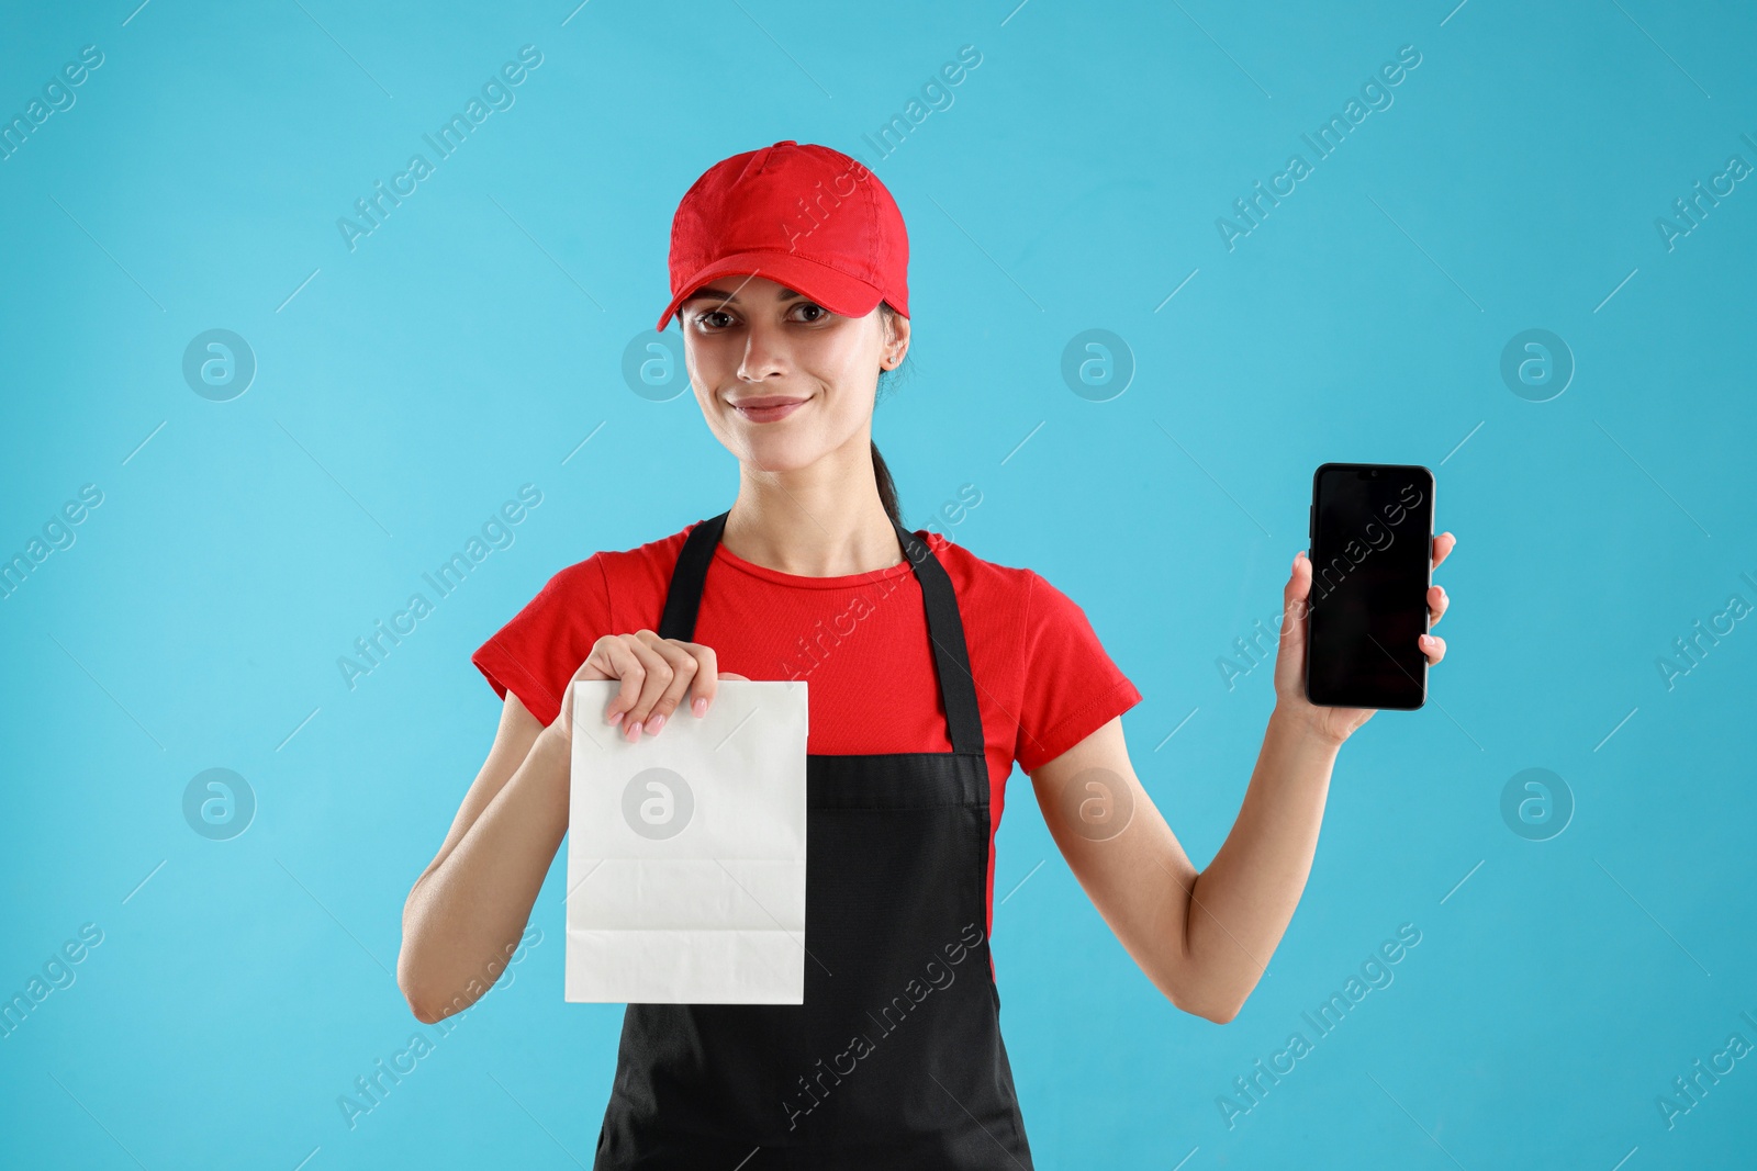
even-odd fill
[{"label": "black neck strap of the apron, both sides over the shoulders", "polygon": [[[694,641],[708,565],[713,564],[713,550],[720,544],[729,514],[731,509],[698,523],[683,539],[683,550],[671,571],[664,616],[659,620],[659,637]],[[933,667],[940,681],[940,699],[945,704],[945,727],[952,751],[980,757],[984,753],[982,709],[977,706],[975,679],[970,674],[970,646],[965,641],[965,621],[958,613],[958,592],[952,588],[952,579],[940,558],[921,537],[894,520],[891,527],[903,546],[903,557],[915,571],[915,581],[921,583],[921,599],[928,613],[928,639],[933,643]]]}]

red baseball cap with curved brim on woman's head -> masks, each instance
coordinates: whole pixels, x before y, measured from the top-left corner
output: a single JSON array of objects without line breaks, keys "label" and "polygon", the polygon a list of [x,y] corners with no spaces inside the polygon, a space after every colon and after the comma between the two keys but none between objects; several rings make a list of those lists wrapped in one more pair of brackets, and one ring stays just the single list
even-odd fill
[{"label": "red baseball cap with curved brim on woman's head", "polygon": [[908,232],[891,191],[842,151],[792,139],[733,154],[685,191],[671,219],[671,304],[722,276],[763,276],[831,313],[880,300],[908,316]]}]

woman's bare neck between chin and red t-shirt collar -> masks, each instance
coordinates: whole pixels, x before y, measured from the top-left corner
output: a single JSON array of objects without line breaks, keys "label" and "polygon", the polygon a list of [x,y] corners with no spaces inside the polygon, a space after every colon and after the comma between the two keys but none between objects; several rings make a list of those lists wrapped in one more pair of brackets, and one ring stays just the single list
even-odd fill
[{"label": "woman's bare neck between chin and red t-shirt collar", "polygon": [[878,499],[871,437],[861,428],[808,467],[770,472],[740,462],[738,499],[720,544],[754,565],[843,578],[903,562]]}]

